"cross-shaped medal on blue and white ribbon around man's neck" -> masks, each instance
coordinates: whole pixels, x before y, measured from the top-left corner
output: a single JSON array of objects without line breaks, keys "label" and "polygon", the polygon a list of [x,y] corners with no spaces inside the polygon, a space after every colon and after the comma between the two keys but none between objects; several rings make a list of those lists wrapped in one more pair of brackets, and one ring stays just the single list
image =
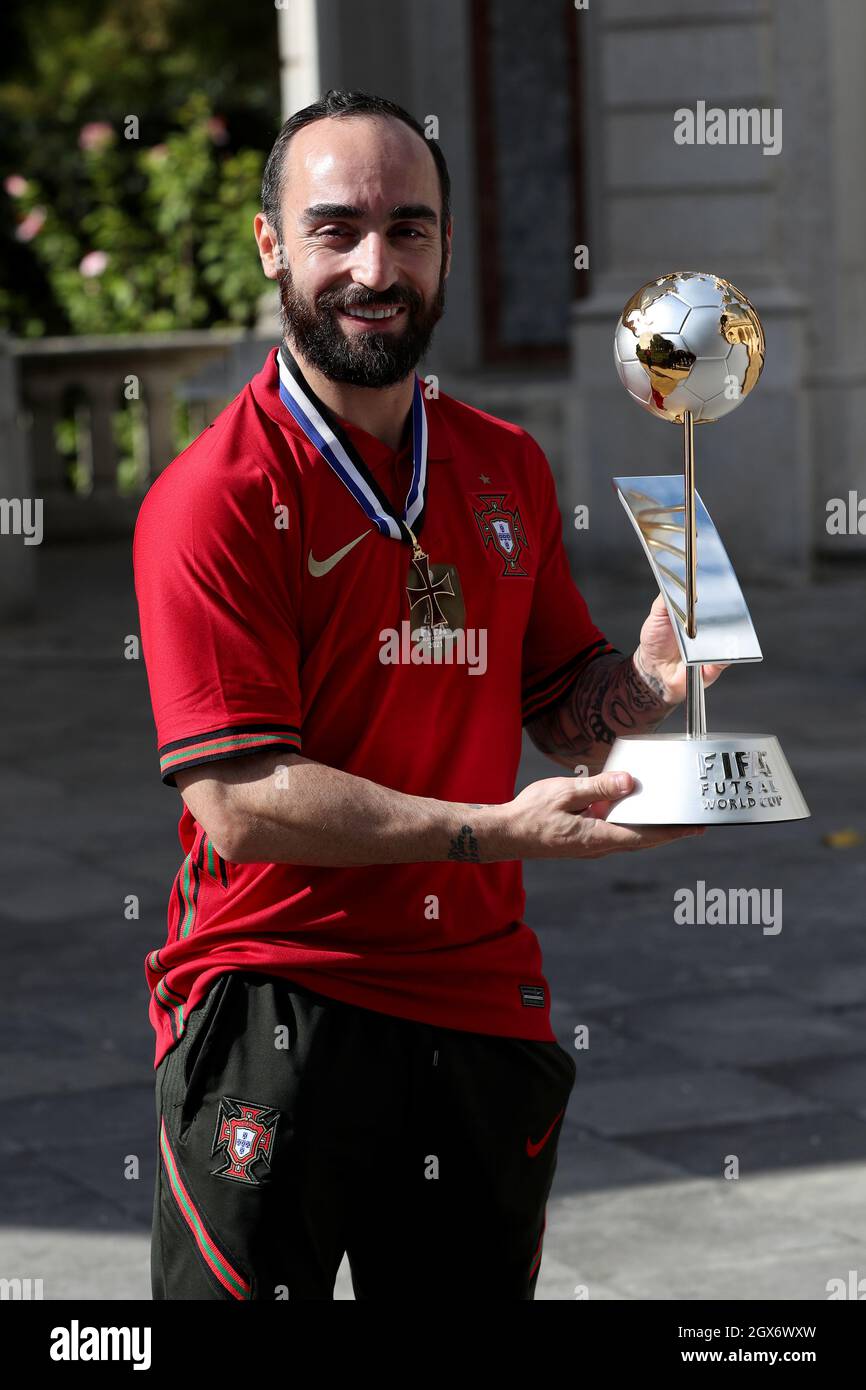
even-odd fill
[{"label": "cross-shaped medal on blue and white ribbon around man's neck", "polygon": [[310,388],[285,343],[278,353],[279,399],[318,449],[329,468],[352,493],[381,535],[411,546],[406,573],[406,598],[413,635],[432,648],[450,639],[466,621],[460,575],[453,564],[432,564],[418,534],[427,502],[427,413],[416,374],[411,398],[411,481],[403,514],[391,506],[360,453],[334,413]]}]

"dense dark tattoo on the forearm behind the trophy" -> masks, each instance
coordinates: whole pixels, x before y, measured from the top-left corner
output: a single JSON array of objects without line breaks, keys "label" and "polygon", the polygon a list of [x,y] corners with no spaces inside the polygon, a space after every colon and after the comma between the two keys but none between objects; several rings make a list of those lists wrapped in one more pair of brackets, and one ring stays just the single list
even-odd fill
[{"label": "dense dark tattoo on the forearm behind the trophy", "polygon": [[674,706],[655,676],[638,676],[631,656],[607,653],[588,662],[553,709],[527,731],[542,753],[562,763],[601,764],[620,734],[651,734]]}]

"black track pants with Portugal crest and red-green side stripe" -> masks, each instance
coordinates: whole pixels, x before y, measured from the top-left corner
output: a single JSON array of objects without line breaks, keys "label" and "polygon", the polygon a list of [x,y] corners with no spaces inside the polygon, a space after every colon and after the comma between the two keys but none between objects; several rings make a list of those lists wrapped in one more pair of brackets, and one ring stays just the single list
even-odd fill
[{"label": "black track pants with Portugal crest and red-green side stripe", "polygon": [[156,1073],[154,1298],[535,1295],[557,1042],[220,976]]}]

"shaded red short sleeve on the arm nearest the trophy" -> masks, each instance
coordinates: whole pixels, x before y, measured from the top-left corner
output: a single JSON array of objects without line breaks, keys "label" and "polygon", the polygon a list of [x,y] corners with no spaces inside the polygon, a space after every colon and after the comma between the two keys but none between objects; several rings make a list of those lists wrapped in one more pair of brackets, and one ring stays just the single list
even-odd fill
[{"label": "shaded red short sleeve on the arm nearest the trophy", "polygon": [[592,621],[571,578],[550,464],[530,435],[527,448],[530,473],[537,480],[535,530],[541,560],[523,639],[524,724],[556,705],[587,662],[609,652],[621,655]]}]

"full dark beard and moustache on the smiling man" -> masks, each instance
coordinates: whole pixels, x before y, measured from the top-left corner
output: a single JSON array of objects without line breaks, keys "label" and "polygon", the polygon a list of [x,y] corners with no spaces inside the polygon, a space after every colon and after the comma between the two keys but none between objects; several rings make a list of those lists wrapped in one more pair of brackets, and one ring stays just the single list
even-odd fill
[{"label": "full dark beard and moustache on the smiling man", "polygon": [[[445,311],[445,277],[439,272],[430,302],[417,289],[392,285],[375,293],[357,285],[325,289],[310,303],[297,291],[292,272],[277,274],[279,320],[284,338],[322,375],[349,386],[393,386],[403,381],[430,346],[432,331]],[[402,332],[364,331],[349,335],[338,320],[341,309],[406,304]]]}]

